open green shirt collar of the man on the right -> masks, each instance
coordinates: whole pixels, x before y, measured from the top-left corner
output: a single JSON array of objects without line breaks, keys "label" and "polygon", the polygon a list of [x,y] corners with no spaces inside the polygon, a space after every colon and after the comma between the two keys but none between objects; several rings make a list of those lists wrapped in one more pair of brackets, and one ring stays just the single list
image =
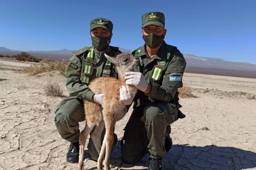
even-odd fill
[{"label": "open green shirt collar of the man on the right", "polygon": [[[158,52],[156,53],[156,55],[153,58],[156,59],[161,59],[164,61],[167,61],[167,48],[166,48],[166,42],[163,40],[161,47],[159,48]],[[147,51],[146,51],[146,43],[141,47],[139,55],[138,56],[142,56],[142,55],[147,55]],[[150,57],[149,57],[150,58]]]}]

